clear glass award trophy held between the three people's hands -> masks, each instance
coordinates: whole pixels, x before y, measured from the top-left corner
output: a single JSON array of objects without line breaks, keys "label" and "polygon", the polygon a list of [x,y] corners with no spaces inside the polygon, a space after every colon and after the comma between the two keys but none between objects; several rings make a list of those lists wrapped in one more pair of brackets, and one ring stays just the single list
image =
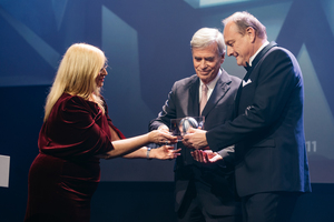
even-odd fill
[{"label": "clear glass award trophy held between the three people's hands", "polygon": [[203,129],[204,117],[185,117],[170,120],[170,132],[177,137],[178,141],[183,140],[183,137],[188,133],[190,128]]}]

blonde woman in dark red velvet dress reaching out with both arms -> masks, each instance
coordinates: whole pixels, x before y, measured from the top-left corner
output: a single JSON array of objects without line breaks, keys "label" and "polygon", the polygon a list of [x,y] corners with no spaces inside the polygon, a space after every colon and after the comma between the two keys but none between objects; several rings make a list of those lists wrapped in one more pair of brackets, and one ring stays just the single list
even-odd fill
[{"label": "blonde woman in dark red velvet dress reaching out with both arms", "polygon": [[[86,43],[71,46],[47,98],[39,134],[40,153],[31,164],[26,222],[90,219],[90,199],[100,180],[99,158],[174,159],[179,153],[161,131],[125,139],[112,124],[100,88],[108,74],[101,50]],[[124,139],[124,140],[119,140]]]}]

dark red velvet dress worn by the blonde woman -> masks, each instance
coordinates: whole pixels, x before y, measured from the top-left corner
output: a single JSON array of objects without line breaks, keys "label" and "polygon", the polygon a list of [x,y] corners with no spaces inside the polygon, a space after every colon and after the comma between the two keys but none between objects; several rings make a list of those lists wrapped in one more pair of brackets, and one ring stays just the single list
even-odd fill
[{"label": "dark red velvet dress worn by the blonde woman", "polygon": [[100,181],[96,154],[112,150],[109,125],[95,102],[63,93],[43,123],[28,178],[26,222],[89,222],[90,200]]}]

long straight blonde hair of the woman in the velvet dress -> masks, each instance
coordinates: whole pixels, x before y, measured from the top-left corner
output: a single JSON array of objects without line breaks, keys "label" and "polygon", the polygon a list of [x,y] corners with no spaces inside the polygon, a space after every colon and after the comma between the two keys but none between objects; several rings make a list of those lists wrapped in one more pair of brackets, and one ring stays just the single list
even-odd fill
[{"label": "long straight blonde hair of the woman in the velvet dress", "polygon": [[100,99],[100,88],[96,78],[107,59],[105,53],[90,44],[75,43],[65,53],[58,68],[50,93],[45,107],[45,122],[63,92],[78,95],[85,100],[96,102],[105,113],[104,102]]}]

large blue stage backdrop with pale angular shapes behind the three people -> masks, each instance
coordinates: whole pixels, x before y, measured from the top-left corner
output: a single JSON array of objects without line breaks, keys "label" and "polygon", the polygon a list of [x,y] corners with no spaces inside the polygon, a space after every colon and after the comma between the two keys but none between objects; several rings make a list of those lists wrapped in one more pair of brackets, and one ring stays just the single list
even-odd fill
[{"label": "large blue stage backdrop with pale angular shapes behind the three people", "polygon": [[[114,123],[132,137],[147,132],[173,83],[195,73],[193,34],[203,27],[223,30],[222,19],[243,10],[266,26],[269,41],[298,59],[311,179],[334,183],[334,1],[0,0],[0,185],[26,189],[38,153],[45,99],[72,43],[105,51],[109,74],[102,94]],[[223,68],[245,74],[234,58],[226,58]],[[173,165],[174,161],[104,160],[101,180],[173,181]]]}]

